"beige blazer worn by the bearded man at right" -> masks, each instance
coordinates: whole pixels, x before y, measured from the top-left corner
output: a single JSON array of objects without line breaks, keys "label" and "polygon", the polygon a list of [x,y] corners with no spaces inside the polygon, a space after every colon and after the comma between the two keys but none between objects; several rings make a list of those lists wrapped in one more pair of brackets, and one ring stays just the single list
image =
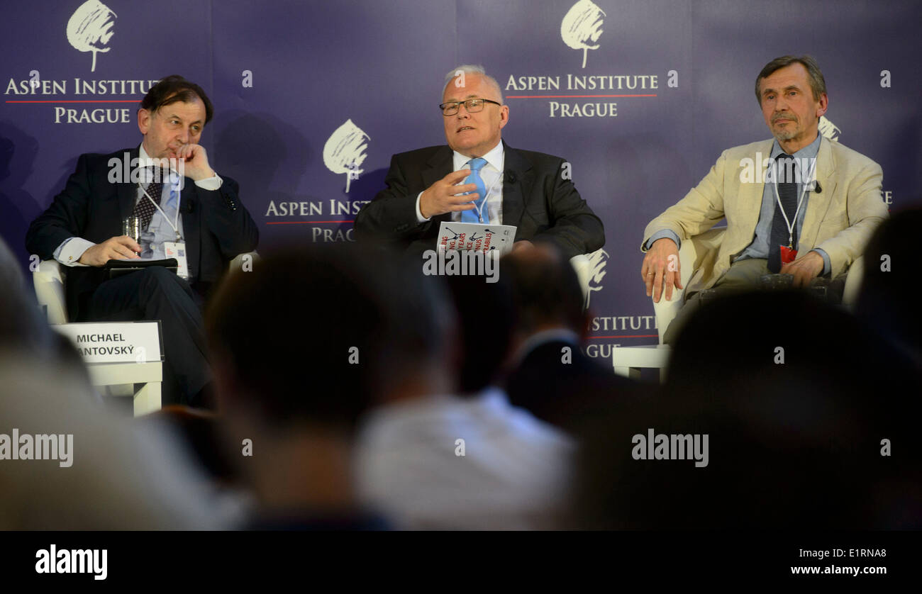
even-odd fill
[{"label": "beige blazer worn by the bearded man at right", "polygon": [[[757,153],[759,160],[767,159],[773,142],[762,140],[725,150],[701,183],[644,229],[642,251],[647,239],[661,229],[671,229],[684,241],[727,219],[720,249],[691,274],[686,295],[714,286],[733,258],[755,239],[764,186]],[[745,174],[753,171],[755,175],[747,179]],[[798,251],[825,250],[835,278],[861,255],[874,229],[887,216],[881,197],[883,172],[868,157],[822,138],[816,179],[822,192],[810,192]]]}]

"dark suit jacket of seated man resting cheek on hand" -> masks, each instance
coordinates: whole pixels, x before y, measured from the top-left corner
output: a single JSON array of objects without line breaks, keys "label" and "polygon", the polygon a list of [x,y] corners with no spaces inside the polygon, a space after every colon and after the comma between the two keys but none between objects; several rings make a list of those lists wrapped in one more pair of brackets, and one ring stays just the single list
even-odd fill
[{"label": "dark suit jacket of seated man resting cheek on hand", "polygon": [[[122,219],[135,208],[136,184],[109,181],[111,158],[138,156],[138,149],[125,148],[110,155],[88,153],[77,159],[77,170],[67,180],[63,192],[54,197],[26,234],[26,249],[42,260],[67,238],[78,237],[96,243],[122,234]],[[183,239],[193,288],[205,297],[217,283],[227,264],[238,254],[252,251],[259,241],[259,230],[237,197],[236,181],[221,176],[218,190],[207,191],[185,179],[180,197]],[[67,316],[83,320],[89,297],[104,280],[96,267],[63,267],[66,274]]]}]

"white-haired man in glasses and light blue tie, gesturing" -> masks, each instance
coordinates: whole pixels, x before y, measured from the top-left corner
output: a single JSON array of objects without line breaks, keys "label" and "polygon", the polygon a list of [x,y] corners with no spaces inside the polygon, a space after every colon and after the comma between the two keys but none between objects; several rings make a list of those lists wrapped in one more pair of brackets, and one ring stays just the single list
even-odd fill
[{"label": "white-haired man in glasses and light blue tie, gesturing", "polygon": [[421,254],[435,249],[443,221],[461,221],[513,225],[515,249],[544,241],[568,258],[604,245],[602,222],[573,187],[569,165],[502,141],[509,106],[481,66],[458,66],[446,76],[440,109],[448,146],[391,159],[387,189],[356,216],[358,239]]}]

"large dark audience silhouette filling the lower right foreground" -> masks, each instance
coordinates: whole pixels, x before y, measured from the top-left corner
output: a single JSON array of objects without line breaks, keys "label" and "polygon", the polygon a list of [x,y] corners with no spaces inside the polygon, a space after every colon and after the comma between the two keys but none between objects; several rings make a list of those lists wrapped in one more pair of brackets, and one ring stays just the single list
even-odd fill
[{"label": "large dark audience silhouette filling the lower right foreground", "polygon": [[[919,377],[810,295],[707,303],[675,344],[662,396],[613,402],[599,419],[582,527],[922,528]],[[657,452],[659,434],[670,437]],[[673,435],[707,446],[685,441],[682,454]]]}]

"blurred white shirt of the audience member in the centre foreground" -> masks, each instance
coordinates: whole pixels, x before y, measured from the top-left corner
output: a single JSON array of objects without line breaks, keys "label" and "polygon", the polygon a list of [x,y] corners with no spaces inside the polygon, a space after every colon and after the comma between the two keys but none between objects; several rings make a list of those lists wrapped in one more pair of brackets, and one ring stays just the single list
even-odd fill
[{"label": "blurred white shirt of the audience member in the centre foreground", "polygon": [[556,528],[573,478],[573,438],[496,388],[384,405],[358,443],[361,500],[398,529]]}]

